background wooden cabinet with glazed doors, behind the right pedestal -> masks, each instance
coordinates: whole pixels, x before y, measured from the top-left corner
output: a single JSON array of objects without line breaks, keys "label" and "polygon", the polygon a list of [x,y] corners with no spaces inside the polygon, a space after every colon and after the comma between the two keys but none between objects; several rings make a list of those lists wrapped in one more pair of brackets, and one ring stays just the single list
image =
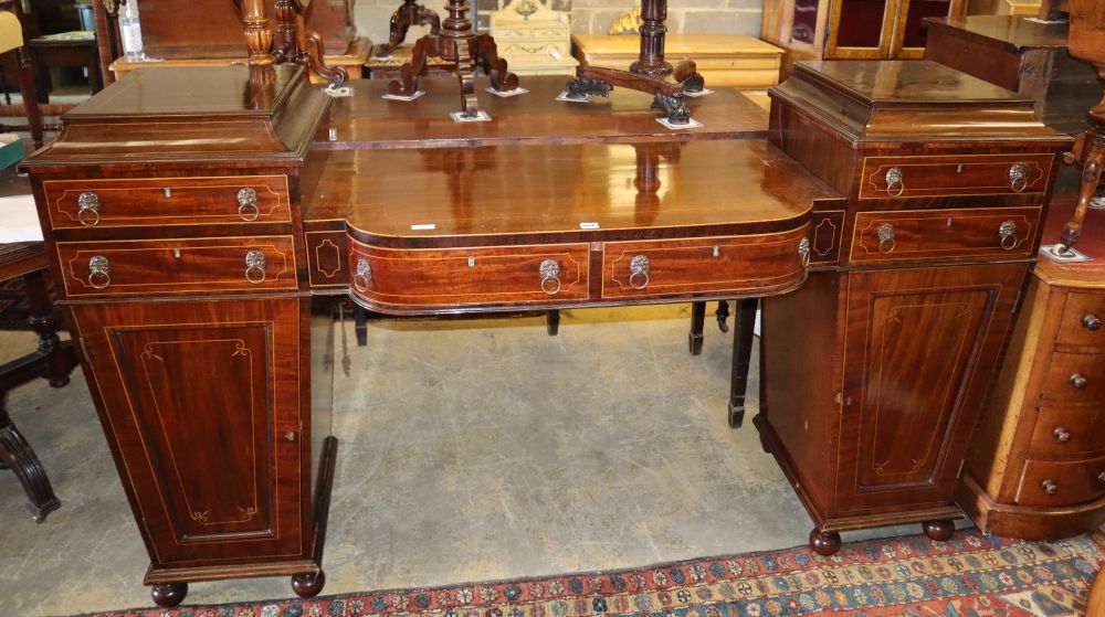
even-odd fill
[{"label": "background wooden cabinet with glazed doors, behind the right pedestal", "polygon": [[777,0],[764,3],[760,38],[787,50],[786,79],[800,60],[919,58],[922,20],[965,10],[965,0]]}]

